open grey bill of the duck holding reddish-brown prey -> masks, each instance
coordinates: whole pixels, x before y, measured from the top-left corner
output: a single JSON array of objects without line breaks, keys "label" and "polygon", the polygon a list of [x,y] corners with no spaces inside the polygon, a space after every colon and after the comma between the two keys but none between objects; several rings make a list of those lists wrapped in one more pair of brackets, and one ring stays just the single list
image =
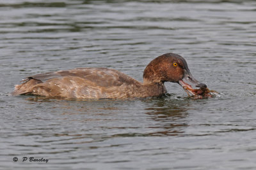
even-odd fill
[{"label": "open grey bill of the duck holding reddish-brown prey", "polygon": [[206,88],[207,86],[204,83],[200,83],[197,81],[191,73],[187,71],[185,73],[184,78],[179,80],[179,85],[183,87],[183,89],[188,92],[188,94],[191,94],[192,96],[195,96],[197,94],[197,89],[194,89],[194,87],[199,87],[199,88]]}]

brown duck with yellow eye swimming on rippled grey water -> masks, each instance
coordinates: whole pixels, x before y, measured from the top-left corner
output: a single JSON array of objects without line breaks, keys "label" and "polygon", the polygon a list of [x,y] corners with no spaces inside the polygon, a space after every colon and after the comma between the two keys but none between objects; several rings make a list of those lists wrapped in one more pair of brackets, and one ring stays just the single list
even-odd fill
[{"label": "brown duck with yellow eye swimming on rippled grey water", "polygon": [[15,85],[13,96],[31,95],[69,99],[128,99],[167,94],[164,83],[178,83],[195,95],[192,86],[206,88],[191,74],[186,60],[176,53],[164,53],[143,71],[143,82],[115,69],[81,67],[28,76]]}]

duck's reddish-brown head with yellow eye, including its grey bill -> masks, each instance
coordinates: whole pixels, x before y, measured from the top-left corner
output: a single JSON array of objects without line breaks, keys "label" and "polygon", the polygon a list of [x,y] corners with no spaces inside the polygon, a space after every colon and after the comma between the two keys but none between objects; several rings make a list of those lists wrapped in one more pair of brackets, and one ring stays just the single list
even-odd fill
[{"label": "duck's reddish-brown head with yellow eye, including its grey bill", "polygon": [[192,95],[195,95],[193,87],[207,87],[192,76],[186,60],[175,53],[160,55],[144,70],[143,83],[164,83],[165,81],[179,83]]}]

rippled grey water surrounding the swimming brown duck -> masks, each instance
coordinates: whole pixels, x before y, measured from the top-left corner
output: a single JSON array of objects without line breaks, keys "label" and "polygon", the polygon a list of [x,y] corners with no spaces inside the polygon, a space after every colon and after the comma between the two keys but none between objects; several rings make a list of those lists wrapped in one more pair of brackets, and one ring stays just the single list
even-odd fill
[{"label": "rippled grey water surrounding the swimming brown duck", "polygon": [[[255,169],[255,16],[255,1],[1,0],[1,169]],[[10,96],[21,78],[74,67],[141,81],[167,52],[221,97],[175,83],[126,101]]]}]

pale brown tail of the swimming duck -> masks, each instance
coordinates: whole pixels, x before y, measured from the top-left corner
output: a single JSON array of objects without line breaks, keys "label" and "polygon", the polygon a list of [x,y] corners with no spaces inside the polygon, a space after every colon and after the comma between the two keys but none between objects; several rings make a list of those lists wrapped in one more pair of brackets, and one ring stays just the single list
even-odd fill
[{"label": "pale brown tail of the swimming duck", "polygon": [[42,83],[42,81],[35,79],[26,79],[23,81],[25,82],[20,85],[15,85],[14,91],[12,92],[13,96],[31,94],[33,93],[33,87],[38,83]]}]

